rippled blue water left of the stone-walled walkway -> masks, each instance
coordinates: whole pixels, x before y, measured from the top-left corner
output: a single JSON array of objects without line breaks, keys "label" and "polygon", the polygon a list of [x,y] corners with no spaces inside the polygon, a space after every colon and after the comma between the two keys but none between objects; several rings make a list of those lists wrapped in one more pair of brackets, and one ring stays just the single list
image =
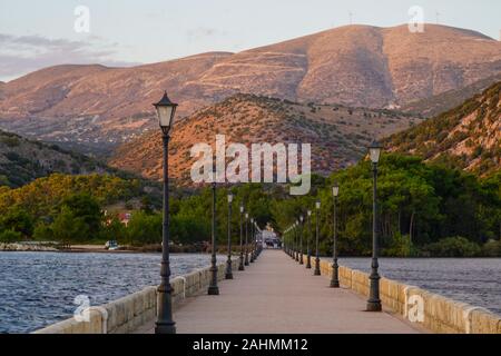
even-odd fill
[{"label": "rippled blue water left of the stone-walled walkway", "polygon": [[[206,267],[209,258],[171,255],[173,276]],[[0,253],[0,333],[28,333],[66,319],[79,295],[101,305],[158,285],[160,260],[157,254]]]}]

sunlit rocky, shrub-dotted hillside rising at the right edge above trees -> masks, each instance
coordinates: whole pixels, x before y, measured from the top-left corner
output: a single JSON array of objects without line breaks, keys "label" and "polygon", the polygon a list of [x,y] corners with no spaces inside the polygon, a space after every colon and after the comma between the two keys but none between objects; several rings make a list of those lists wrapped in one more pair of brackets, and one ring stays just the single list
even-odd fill
[{"label": "sunlit rocky, shrub-dotted hillside rising at the right edge above trees", "polygon": [[501,81],[462,106],[390,137],[391,151],[455,166],[481,176],[501,168]]}]

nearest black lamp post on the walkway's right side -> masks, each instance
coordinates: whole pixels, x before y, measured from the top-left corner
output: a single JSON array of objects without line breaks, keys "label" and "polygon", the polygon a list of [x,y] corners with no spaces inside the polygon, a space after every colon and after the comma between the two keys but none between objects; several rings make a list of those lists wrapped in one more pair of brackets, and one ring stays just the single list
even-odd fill
[{"label": "nearest black lamp post on the walkway's right side", "polygon": [[382,146],[373,141],[369,147],[369,156],[372,161],[373,195],[372,195],[372,264],[371,264],[371,289],[369,291],[367,312],[381,312],[380,299],[380,275],[377,273],[377,162],[380,161]]}]

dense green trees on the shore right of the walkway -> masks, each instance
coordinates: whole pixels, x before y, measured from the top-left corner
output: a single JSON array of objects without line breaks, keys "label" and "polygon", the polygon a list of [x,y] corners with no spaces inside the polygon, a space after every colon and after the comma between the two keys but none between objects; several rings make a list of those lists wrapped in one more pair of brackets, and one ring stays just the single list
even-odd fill
[{"label": "dense green trees on the shore right of the walkway", "polygon": [[[379,233],[390,256],[501,255],[501,172],[480,180],[420,158],[385,155],[379,167]],[[372,170],[369,161],[332,175],[320,187],[322,250],[332,246],[333,198],[337,180],[342,255],[369,255],[372,248]],[[279,226],[293,222],[315,197],[277,201]],[[483,250],[481,250],[483,247]],[[449,254],[448,250],[453,253]]]}]

